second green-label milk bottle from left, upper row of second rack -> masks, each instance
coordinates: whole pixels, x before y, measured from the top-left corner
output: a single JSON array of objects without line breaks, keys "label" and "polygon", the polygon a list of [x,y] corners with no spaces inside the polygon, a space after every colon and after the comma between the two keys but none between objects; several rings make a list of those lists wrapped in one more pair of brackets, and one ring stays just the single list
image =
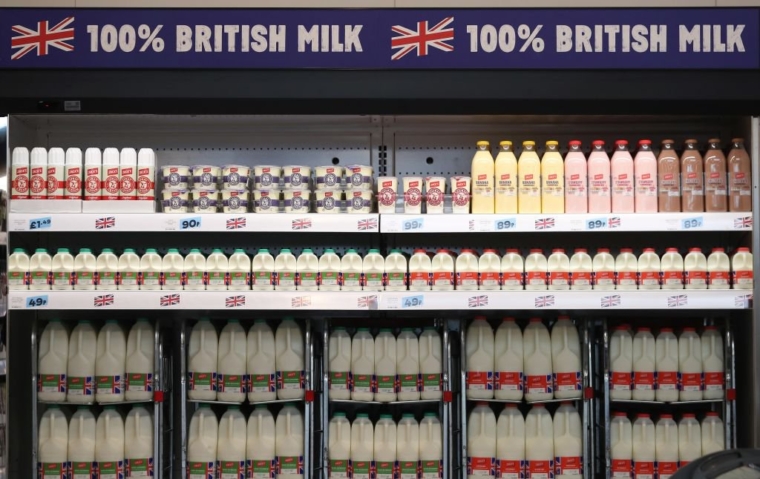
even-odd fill
[{"label": "second green-label milk bottle from left, upper row of second rack", "polygon": [[219,401],[243,402],[248,388],[246,375],[247,338],[236,319],[230,319],[219,335],[216,367],[216,398]]}]

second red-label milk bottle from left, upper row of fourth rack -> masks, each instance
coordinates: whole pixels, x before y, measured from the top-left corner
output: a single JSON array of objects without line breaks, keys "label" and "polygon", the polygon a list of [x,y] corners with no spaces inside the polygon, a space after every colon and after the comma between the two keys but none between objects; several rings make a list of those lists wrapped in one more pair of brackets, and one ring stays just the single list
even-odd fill
[{"label": "second red-label milk bottle from left, upper row of fourth rack", "polygon": [[494,398],[520,401],[523,397],[523,336],[515,318],[504,318],[499,325],[494,348]]}]

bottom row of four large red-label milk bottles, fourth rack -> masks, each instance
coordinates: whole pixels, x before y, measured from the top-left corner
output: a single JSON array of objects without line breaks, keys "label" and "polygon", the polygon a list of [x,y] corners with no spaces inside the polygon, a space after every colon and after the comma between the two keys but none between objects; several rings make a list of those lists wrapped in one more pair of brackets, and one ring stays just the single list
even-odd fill
[{"label": "bottom row of four large red-label milk bottles, fourth rack", "polygon": [[487,402],[467,419],[467,478],[583,477],[583,426],[578,411],[563,402],[552,418],[536,404],[523,418],[507,404],[498,420]]}]

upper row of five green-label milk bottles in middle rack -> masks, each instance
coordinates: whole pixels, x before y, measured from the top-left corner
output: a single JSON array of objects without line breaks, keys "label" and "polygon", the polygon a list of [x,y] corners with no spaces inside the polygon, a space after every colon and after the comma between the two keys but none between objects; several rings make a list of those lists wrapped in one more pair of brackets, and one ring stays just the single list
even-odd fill
[{"label": "upper row of five green-label milk bottles in middle rack", "polygon": [[372,337],[359,328],[351,338],[345,328],[330,334],[330,399],[417,401],[441,399],[441,336],[425,328],[419,338],[412,328],[398,337],[384,328]]}]

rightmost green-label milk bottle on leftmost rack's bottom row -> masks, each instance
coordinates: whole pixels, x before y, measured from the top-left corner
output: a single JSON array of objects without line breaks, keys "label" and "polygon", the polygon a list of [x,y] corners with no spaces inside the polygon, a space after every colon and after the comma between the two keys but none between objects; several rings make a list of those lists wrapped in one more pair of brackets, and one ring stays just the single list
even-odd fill
[{"label": "rightmost green-label milk bottle on leftmost rack's bottom row", "polygon": [[153,462],[153,417],[135,406],[124,421],[124,469],[127,479],[150,477]]}]

